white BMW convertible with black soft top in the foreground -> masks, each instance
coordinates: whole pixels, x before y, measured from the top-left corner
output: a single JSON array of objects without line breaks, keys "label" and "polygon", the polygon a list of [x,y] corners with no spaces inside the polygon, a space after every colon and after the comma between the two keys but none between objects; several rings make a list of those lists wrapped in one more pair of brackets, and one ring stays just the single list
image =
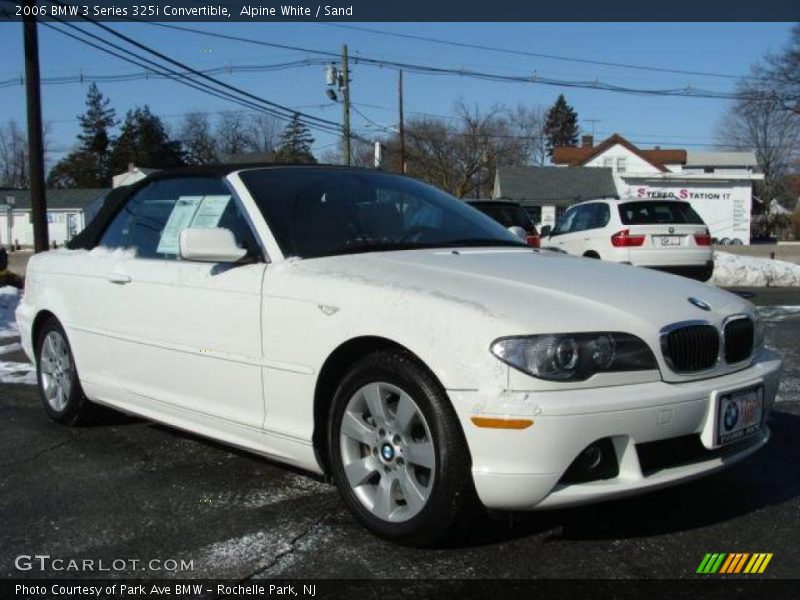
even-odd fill
[{"label": "white BMW convertible with black soft top in the foreground", "polygon": [[526,246],[413,179],[206,168],[112,192],[17,311],[47,414],[95,405],[333,479],[425,544],[755,452],[781,361],[719,289]]}]

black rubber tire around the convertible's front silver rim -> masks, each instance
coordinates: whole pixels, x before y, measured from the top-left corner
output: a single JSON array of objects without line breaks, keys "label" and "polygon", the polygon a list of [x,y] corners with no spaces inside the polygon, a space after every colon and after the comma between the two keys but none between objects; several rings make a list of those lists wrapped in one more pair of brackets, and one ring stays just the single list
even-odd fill
[{"label": "black rubber tire around the convertible's front silver rim", "polygon": [[[345,410],[359,390],[376,382],[397,386],[413,399],[433,442],[435,471],[429,481],[429,496],[417,514],[402,522],[390,522],[373,514],[359,500],[344,470],[340,434]],[[459,517],[477,506],[472,461],[458,417],[433,374],[408,354],[380,351],[353,365],[334,394],[327,442],[333,479],[345,504],[364,527],[389,541],[409,546],[435,544],[448,536]]]}]

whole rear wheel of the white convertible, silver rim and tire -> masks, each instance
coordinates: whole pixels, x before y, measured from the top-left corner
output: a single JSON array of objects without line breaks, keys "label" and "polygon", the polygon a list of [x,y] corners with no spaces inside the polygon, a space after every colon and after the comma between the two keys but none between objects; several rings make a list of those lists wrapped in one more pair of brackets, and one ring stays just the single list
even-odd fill
[{"label": "whole rear wheel of the white convertible, silver rim and tire", "polygon": [[51,419],[65,425],[87,420],[94,406],[83,395],[67,335],[55,319],[49,319],[39,332],[36,373],[39,395]]}]

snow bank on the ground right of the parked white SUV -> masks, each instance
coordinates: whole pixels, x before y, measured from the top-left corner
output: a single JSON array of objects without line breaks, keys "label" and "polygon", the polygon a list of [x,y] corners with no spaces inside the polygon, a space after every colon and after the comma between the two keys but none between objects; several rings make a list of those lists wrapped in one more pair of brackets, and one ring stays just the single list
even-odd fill
[{"label": "snow bank on the ground right of the parked white SUV", "polygon": [[800,265],[714,252],[714,274],[708,283],[721,287],[800,287]]}]

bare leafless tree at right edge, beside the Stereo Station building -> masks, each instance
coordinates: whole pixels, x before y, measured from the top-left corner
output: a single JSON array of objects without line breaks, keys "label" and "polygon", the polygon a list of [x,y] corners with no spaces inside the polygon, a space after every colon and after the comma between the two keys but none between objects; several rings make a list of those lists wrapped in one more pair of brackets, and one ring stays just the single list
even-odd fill
[{"label": "bare leafless tree at right edge, beside the Stereo Station building", "polygon": [[722,146],[755,152],[764,174],[760,195],[768,206],[800,164],[800,114],[785,110],[781,96],[760,80],[743,81],[737,91],[740,99],[720,123]]}]

